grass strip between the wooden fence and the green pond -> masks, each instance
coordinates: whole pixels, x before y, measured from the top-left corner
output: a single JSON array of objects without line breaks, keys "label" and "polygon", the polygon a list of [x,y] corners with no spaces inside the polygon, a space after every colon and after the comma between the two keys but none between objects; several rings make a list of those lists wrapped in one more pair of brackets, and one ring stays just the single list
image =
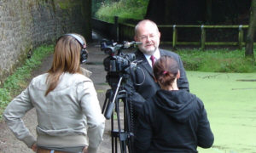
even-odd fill
[{"label": "grass strip between the wooden fence and the green pond", "polygon": [[256,62],[244,58],[244,49],[179,49],[177,54],[183,59],[183,65],[188,71],[256,72]]}]

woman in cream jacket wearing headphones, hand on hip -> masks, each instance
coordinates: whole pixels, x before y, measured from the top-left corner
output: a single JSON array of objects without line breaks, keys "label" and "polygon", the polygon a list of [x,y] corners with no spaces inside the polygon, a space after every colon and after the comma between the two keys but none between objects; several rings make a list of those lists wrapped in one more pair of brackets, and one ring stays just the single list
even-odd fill
[{"label": "woman in cream jacket wearing headphones, hand on hip", "polygon": [[[94,84],[80,68],[85,48],[84,37],[61,36],[49,71],[34,77],[3,113],[15,137],[38,153],[96,152],[102,142],[105,118]],[[32,108],[38,116],[37,139],[21,120]]]}]

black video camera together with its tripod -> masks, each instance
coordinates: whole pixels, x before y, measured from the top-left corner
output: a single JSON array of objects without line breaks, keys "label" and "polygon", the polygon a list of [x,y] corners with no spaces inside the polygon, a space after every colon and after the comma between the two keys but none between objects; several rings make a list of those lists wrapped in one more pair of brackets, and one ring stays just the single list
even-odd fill
[{"label": "black video camera together with its tripod", "polygon": [[[103,59],[105,71],[108,71],[106,76],[107,82],[111,89],[106,92],[106,99],[102,107],[102,114],[106,119],[111,118],[111,139],[112,152],[117,152],[117,138],[119,138],[119,146],[121,153],[132,152],[133,150],[133,105],[129,99],[131,91],[125,90],[125,84],[129,81],[131,71],[137,67],[135,54],[124,54],[122,49],[134,48],[142,42],[122,42],[117,43],[108,40],[102,40],[101,50],[108,54],[108,57]],[[123,122],[121,125],[119,103],[123,102],[124,111]],[[113,108],[115,108],[113,110]],[[117,121],[113,121],[113,111],[116,112]],[[113,129],[117,123],[117,129]],[[115,140],[114,140],[115,139]]]}]

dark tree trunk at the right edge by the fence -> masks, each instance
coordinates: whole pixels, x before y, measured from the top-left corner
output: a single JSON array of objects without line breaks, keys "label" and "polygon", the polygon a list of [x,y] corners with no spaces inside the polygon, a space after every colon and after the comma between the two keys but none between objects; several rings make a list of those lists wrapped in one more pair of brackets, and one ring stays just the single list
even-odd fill
[{"label": "dark tree trunk at the right edge by the fence", "polygon": [[254,38],[255,30],[256,30],[256,0],[252,0],[251,8],[250,8],[250,23],[249,23],[249,29],[247,31],[247,38],[246,38],[245,56],[251,57],[253,59],[254,59],[253,38]]}]

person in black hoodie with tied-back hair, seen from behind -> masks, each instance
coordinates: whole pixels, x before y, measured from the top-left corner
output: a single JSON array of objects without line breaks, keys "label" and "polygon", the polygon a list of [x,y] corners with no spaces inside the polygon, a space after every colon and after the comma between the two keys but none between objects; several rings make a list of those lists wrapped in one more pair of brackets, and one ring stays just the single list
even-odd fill
[{"label": "person in black hoodie with tied-back hair, seen from behind", "polygon": [[177,88],[177,61],[162,56],[154,64],[160,89],[143,105],[135,132],[135,152],[197,152],[214,137],[201,99]]}]

